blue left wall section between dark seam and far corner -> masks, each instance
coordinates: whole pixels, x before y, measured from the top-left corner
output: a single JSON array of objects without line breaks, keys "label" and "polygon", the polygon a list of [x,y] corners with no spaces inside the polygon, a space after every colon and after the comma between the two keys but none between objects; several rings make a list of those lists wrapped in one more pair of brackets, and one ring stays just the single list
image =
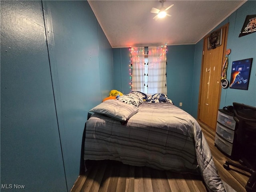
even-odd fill
[{"label": "blue left wall section between dark seam and far corner", "polygon": [[112,48],[87,1],[43,1],[68,189],[88,111],[113,87]]}]

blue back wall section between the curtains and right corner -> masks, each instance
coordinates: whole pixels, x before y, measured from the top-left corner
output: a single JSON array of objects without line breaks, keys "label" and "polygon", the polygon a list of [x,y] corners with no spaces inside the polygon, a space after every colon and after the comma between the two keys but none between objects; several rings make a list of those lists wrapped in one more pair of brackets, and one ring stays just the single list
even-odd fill
[{"label": "blue back wall section between the curtains and right corner", "polygon": [[[172,102],[190,113],[195,45],[168,46],[167,94]],[[179,106],[182,102],[182,106]]]}]

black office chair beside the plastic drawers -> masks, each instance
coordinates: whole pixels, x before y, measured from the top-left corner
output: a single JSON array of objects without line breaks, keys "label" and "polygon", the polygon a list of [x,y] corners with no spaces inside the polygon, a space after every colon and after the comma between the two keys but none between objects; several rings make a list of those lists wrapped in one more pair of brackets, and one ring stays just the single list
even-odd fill
[{"label": "black office chair beside the plastic drawers", "polygon": [[230,165],[251,174],[245,189],[256,192],[256,108],[240,103],[233,103],[234,120],[238,124],[236,129],[237,144],[240,146],[240,164],[226,161],[226,170]]}]

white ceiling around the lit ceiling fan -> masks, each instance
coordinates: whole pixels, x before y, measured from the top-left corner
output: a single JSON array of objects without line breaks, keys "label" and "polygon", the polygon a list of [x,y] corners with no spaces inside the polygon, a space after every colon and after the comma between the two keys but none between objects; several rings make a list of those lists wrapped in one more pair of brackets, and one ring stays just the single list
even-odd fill
[{"label": "white ceiling around the lit ceiling fan", "polygon": [[195,44],[246,0],[166,0],[172,15],[153,20],[158,0],[88,0],[112,48]]}]

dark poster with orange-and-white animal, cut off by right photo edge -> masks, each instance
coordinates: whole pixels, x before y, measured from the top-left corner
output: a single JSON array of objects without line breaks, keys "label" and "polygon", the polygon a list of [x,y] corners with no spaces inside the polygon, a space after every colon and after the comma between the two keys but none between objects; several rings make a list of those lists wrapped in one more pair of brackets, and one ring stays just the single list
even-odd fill
[{"label": "dark poster with orange-and-white animal, cut off by right photo edge", "polygon": [[256,32],[256,15],[247,15],[238,37],[242,37],[253,32]]}]

